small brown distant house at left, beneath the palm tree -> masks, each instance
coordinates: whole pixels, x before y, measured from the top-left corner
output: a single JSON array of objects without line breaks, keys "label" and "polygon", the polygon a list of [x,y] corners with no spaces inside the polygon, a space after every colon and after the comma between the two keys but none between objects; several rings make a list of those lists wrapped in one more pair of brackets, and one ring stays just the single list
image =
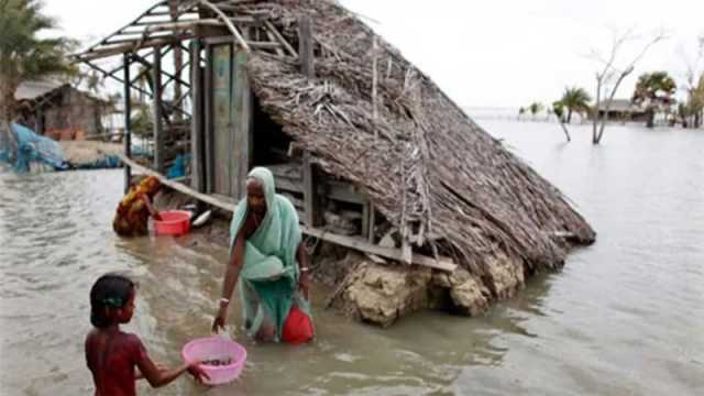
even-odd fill
[{"label": "small brown distant house at left, beneath the palm tree", "polygon": [[103,100],[56,81],[25,81],[14,98],[20,123],[55,140],[82,140],[103,132]]}]

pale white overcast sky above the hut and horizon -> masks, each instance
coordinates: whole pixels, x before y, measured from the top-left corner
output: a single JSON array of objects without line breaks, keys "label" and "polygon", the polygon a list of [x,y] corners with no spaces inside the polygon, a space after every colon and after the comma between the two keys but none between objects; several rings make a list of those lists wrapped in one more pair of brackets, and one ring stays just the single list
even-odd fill
[{"label": "pale white overcast sky above the hut and horizon", "polygon": [[[65,34],[95,42],[130,22],[152,2],[144,0],[45,0]],[[664,29],[658,44],[625,81],[629,97],[638,74],[654,69],[683,82],[686,62],[704,35],[704,0],[342,0],[406,57],[466,107],[519,107],[551,102],[565,86],[594,90],[598,64],[586,55],[606,53],[612,30],[642,37]],[[622,52],[622,64],[642,42]],[[704,63],[703,65],[704,66]]]}]

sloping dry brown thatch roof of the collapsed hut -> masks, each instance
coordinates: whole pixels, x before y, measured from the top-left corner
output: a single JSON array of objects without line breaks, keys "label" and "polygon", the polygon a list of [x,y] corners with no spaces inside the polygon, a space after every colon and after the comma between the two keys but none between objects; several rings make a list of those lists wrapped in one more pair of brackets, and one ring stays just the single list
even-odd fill
[{"label": "sloping dry brown thatch roof of the collapsed hut", "polygon": [[[301,75],[292,56],[254,50],[249,70],[255,96],[322,169],[361,186],[406,240],[424,250],[437,243],[441,254],[476,275],[486,272],[493,255],[507,255],[532,272],[563,263],[565,235],[574,243],[593,242],[594,231],[556,187],[340,4],[213,2],[226,4],[230,18],[268,19],[294,46],[297,21],[312,19],[316,77]],[[116,50],[91,51],[84,59]]]}]

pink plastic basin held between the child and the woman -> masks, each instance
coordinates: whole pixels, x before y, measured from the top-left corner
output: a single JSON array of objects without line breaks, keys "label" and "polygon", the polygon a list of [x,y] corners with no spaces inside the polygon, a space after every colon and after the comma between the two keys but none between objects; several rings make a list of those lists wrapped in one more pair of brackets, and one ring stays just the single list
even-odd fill
[{"label": "pink plastic basin held between the child and the woman", "polygon": [[237,380],[244,369],[244,362],[246,362],[244,346],[219,336],[190,341],[184,346],[182,355],[186,362],[213,359],[232,361],[231,364],[222,366],[201,364],[200,367],[210,376],[210,380],[204,378],[206,385],[221,385]]}]

